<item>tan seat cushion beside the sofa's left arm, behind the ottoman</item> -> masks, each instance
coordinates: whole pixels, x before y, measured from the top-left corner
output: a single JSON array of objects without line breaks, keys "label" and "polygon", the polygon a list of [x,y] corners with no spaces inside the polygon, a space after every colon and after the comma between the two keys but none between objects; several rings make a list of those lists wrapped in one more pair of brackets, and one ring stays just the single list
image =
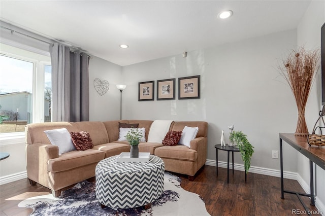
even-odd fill
[{"label": "tan seat cushion beside the sofa's left arm, behind the ottoman", "polygon": [[105,158],[105,153],[98,150],[72,151],[48,161],[48,171],[60,172],[96,163]]}]

